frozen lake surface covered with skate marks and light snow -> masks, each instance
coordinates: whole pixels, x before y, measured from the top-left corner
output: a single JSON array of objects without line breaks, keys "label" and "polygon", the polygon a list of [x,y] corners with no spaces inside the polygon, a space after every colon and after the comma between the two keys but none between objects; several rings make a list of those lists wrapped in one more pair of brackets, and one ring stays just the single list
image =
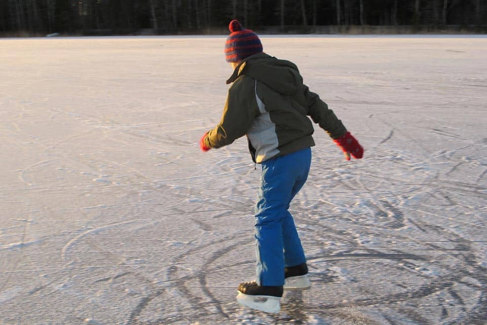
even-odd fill
[{"label": "frozen lake surface covered with skate marks and light snow", "polygon": [[262,37],[366,149],[317,128],[276,315],[235,302],[259,166],[197,144],[225,39],[0,40],[0,323],[485,323],[487,38]]}]

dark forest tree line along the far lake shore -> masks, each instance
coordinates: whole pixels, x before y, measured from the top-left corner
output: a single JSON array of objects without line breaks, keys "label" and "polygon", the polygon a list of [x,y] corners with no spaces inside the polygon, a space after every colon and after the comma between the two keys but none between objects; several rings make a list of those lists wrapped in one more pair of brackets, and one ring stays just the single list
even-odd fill
[{"label": "dark forest tree line along the far lake shore", "polygon": [[[3,0],[0,33],[83,35],[148,29],[203,34],[244,27],[485,25],[487,0]],[[278,29],[279,30],[279,29]],[[301,29],[302,30],[302,29]]]}]

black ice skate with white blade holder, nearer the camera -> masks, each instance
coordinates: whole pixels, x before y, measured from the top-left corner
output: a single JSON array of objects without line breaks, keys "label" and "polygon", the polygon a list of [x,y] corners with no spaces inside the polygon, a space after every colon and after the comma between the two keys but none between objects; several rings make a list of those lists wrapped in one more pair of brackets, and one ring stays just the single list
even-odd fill
[{"label": "black ice skate with white blade holder, nearer the camera", "polygon": [[238,286],[237,302],[240,305],[276,313],[281,310],[282,286],[260,286],[256,281],[243,282]]}]

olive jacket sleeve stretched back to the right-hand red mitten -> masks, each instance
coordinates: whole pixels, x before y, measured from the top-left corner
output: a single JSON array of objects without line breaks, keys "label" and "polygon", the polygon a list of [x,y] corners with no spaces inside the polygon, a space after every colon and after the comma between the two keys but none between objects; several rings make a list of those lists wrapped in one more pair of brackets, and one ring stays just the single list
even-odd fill
[{"label": "olive jacket sleeve stretched back to the right-hand red mitten", "polygon": [[320,125],[331,138],[338,139],[346,133],[343,123],[336,117],[335,113],[328,108],[320,96],[312,91],[306,85],[303,85],[304,98],[308,109],[307,115]]}]

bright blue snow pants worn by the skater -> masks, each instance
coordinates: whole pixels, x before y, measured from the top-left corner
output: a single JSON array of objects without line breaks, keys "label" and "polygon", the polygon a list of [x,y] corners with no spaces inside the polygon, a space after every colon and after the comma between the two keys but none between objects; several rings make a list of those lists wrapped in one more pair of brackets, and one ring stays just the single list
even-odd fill
[{"label": "bright blue snow pants worn by the skater", "polygon": [[311,148],[263,161],[255,207],[256,281],[283,285],[284,268],[306,262],[289,205],[306,182]]}]

